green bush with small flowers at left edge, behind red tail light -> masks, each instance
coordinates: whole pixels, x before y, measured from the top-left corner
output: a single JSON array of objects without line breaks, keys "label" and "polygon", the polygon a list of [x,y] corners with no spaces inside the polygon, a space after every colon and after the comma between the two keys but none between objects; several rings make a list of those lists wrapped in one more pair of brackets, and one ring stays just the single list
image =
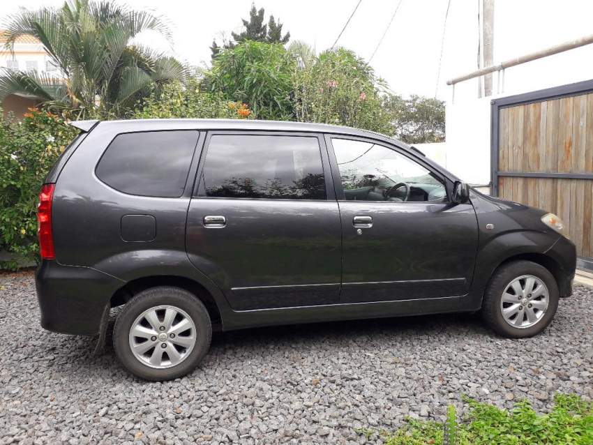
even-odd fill
[{"label": "green bush with small flowers at left edge, behind red tail light", "polygon": [[15,269],[38,260],[36,207],[50,167],[77,134],[64,120],[30,109],[22,122],[0,119],[0,250]]}]

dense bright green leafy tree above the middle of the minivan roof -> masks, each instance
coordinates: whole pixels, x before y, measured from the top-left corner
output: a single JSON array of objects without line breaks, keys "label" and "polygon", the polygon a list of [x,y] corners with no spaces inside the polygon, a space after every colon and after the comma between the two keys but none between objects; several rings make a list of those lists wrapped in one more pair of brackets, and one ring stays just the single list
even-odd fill
[{"label": "dense bright green leafy tree above the middle of the minivan roof", "polygon": [[247,103],[257,119],[288,120],[295,70],[282,45],[246,40],[216,56],[207,80],[225,99]]}]

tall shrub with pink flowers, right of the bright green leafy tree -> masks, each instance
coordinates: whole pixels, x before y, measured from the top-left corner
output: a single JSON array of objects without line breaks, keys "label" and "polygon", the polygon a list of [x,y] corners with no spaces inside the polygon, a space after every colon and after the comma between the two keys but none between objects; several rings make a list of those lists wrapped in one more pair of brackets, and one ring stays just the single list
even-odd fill
[{"label": "tall shrub with pink flowers, right of the bright green leafy tree", "polygon": [[303,67],[294,77],[297,120],[393,133],[382,106],[382,84],[368,63],[343,48],[315,59],[302,45],[294,50],[302,54]]}]

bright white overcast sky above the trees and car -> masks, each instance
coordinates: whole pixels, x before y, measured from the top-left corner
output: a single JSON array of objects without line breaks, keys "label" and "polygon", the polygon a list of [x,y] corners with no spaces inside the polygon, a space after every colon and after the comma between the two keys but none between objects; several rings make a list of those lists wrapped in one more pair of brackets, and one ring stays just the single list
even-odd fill
[{"label": "bright white overcast sky above the trees and car", "polygon": [[[436,95],[447,100],[451,97],[451,87],[446,86],[446,80],[477,68],[478,47],[479,0],[450,1],[444,28],[449,0],[361,0],[338,45],[368,59],[387,29],[371,61],[377,75],[388,82],[392,91],[404,96]],[[19,7],[62,3],[63,0],[3,1],[0,17],[5,20]],[[209,46],[213,38],[220,43],[221,36],[230,37],[231,31],[241,31],[241,17],[248,17],[252,0],[128,0],[126,3],[166,17],[172,28],[172,43],[155,33],[141,36],[141,43],[193,65],[204,65],[210,62]],[[280,19],[284,31],[290,31],[291,40],[304,40],[320,52],[331,47],[356,3],[358,0],[257,0],[256,6],[266,10],[266,20],[269,14]],[[589,0],[495,0],[495,63],[588,35],[593,32],[591,17],[593,1]],[[592,56],[593,45],[590,45],[539,64],[534,62],[534,66],[547,73],[557,71],[562,77],[562,70],[570,69],[567,67],[571,63],[589,64]],[[516,78],[523,78],[524,82],[534,77],[530,68],[513,69]]]}]

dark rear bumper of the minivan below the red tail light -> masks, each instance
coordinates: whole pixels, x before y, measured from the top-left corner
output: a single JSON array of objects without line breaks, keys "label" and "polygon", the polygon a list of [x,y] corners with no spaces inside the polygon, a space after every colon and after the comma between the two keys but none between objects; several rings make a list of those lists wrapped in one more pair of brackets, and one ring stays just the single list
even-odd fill
[{"label": "dark rear bumper of the minivan below the red tail light", "polygon": [[88,267],[44,260],[35,284],[43,329],[94,335],[100,331],[105,305],[124,282]]}]

